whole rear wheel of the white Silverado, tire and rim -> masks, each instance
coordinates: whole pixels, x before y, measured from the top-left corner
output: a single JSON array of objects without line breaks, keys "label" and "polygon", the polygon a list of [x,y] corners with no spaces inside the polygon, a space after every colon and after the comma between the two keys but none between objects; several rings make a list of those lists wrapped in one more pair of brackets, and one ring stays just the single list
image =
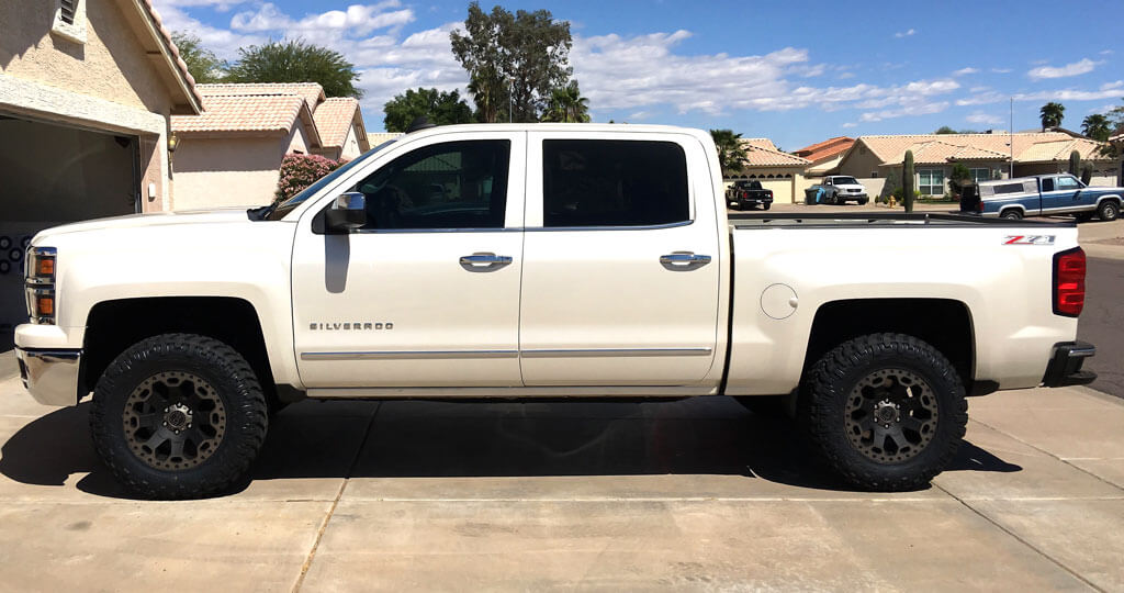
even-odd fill
[{"label": "whole rear wheel of the white Silverado, tire and rim", "polygon": [[952,460],[968,424],[955,369],[909,335],[844,342],[815,363],[801,387],[799,415],[815,448],[863,489],[924,487]]}]

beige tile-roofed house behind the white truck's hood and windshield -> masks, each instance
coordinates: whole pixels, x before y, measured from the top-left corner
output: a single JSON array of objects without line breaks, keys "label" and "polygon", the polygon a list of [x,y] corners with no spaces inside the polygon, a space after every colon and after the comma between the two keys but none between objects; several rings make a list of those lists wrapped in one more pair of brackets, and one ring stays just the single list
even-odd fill
[{"label": "beige tile-roofed house behind the white truck's hood and windshield", "polygon": [[178,210],[270,204],[285,154],[350,160],[371,147],[359,101],[315,82],[197,88],[205,111],[172,118]]}]

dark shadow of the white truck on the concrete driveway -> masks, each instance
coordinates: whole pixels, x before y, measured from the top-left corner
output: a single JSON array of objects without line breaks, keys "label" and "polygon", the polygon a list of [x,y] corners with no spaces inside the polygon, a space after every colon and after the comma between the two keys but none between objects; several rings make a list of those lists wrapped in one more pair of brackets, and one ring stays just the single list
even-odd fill
[{"label": "dark shadow of the white truck on the concrete driveway", "polygon": [[[128,497],[97,458],[89,403],[37,419],[2,444],[24,484]],[[970,442],[949,471],[1022,467]],[[725,397],[682,402],[302,402],[271,420],[251,480],[341,477],[733,475],[850,491],[787,420]],[[236,493],[248,485],[236,487]],[[228,494],[233,494],[228,493]]]}]

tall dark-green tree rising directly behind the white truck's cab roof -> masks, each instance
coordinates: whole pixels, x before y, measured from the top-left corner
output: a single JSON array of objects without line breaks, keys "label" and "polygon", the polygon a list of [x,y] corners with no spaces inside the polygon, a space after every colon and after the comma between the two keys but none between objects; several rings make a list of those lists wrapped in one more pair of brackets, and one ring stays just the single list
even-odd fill
[{"label": "tall dark-green tree rising directly behind the white truck's cab roof", "polygon": [[513,15],[496,6],[488,14],[472,2],[464,30],[451,33],[450,41],[469,72],[477,118],[537,122],[552,89],[565,87],[573,72],[570,24],[555,21],[549,10]]}]

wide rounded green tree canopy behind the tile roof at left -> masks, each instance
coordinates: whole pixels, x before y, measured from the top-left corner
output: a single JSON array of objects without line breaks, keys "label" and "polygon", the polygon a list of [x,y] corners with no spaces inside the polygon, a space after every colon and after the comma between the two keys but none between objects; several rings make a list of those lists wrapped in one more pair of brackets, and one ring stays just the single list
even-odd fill
[{"label": "wide rounded green tree canopy behind the tile roof at left", "polygon": [[301,39],[238,50],[226,82],[319,82],[328,97],[362,97],[359,73],[343,54]]}]

